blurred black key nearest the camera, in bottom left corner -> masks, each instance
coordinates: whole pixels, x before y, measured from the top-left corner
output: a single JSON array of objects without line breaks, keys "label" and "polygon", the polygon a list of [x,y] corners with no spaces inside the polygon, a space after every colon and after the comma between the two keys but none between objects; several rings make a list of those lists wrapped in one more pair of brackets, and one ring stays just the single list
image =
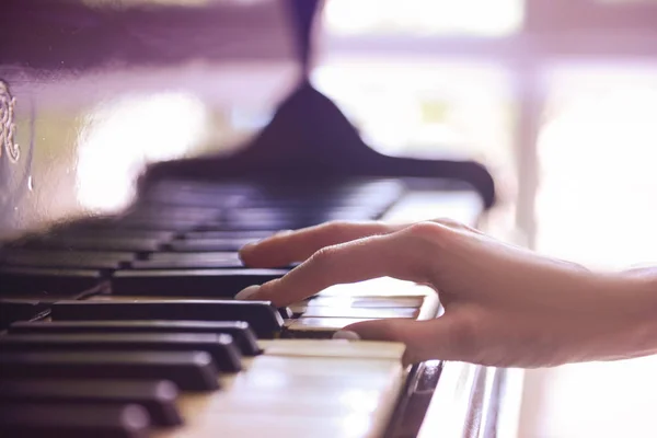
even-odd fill
[{"label": "blurred black key nearest the camera, in bottom left corner", "polygon": [[150,418],[139,405],[0,405],[0,436],[20,438],[146,438]]}]

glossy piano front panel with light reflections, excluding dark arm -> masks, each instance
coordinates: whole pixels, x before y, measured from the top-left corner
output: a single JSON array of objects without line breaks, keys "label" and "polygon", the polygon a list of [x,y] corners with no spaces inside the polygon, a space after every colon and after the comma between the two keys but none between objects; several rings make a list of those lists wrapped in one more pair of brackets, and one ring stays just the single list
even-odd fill
[{"label": "glossy piano front panel with light reflections, excluding dark arm", "polygon": [[5,0],[0,235],[127,206],[146,163],[227,153],[299,82],[276,0]]}]

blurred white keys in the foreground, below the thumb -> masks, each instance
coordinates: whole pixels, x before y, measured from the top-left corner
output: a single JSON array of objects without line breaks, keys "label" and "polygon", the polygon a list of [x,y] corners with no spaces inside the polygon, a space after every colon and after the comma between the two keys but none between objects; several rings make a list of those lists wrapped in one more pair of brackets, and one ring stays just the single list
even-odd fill
[{"label": "blurred white keys in the foreground, below the thumb", "polygon": [[[222,377],[228,391],[182,395],[178,405],[186,425],[155,430],[153,438],[205,437],[217,430],[223,438],[260,437],[272,430],[289,437],[384,436],[406,377],[403,345],[280,339],[264,344],[265,354],[244,371]],[[322,356],[324,349],[328,357]]]}]

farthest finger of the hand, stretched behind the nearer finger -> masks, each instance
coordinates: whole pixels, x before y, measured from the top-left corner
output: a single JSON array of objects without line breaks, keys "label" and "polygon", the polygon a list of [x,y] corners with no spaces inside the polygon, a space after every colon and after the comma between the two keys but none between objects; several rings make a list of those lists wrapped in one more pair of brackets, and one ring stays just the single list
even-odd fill
[{"label": "farthest finger of the hand, stretched behind the nearer finger", "polygon": [[383,222],[327,222],[247,244],[241,249],[240,257],[246,266],[252,267],[287,266],[306,261],[322,247],[388,234],[405,227]]}]

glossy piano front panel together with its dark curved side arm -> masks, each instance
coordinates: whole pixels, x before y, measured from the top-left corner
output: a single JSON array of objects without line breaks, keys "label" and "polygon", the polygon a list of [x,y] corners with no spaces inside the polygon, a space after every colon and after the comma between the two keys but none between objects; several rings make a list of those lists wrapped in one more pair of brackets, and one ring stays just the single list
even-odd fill
[{"label": "glossy piano front panel together with its dark curved side arm", "polygon": [[489,206],[493,183],[481,165],[382,157],[306,80],[319,5],[4,0],[0,238],[118,211],[153,163],[161,164],[145,181],[452,177],[475,186]]}]

